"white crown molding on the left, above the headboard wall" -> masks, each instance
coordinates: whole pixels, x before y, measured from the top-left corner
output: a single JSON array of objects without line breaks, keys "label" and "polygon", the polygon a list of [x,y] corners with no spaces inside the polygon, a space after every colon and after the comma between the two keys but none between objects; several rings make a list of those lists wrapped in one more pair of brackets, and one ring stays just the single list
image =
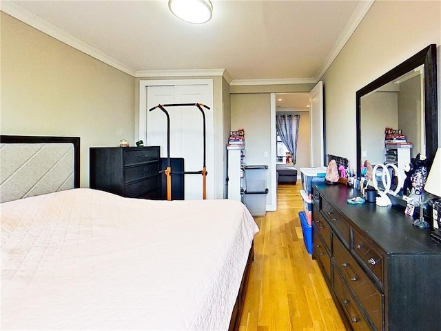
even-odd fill
[{"label": "white crown molding on the left, above the headboard wall", "polygon": [[93,48],[88,43],[85,43],[84,41],[81,41],[81,39],[72,36],[72,34],[69,34],[68,32],[61,30],[60,28],[57,28],[57,26],[54,26],[48,21],[45,21],[36,14],[33,14],[29,10],[26,10],[25,8],[19,6],[17,3],[13,3],[12,1],[1,1],[0,3],[0,10],[2,12],[6,12],[6,14],[9,14],[15,19],[18,19],[19,21],[22,21],[23,23],[32,26],[32,28],[36,28],[37,30],[40,30],[45,34],[48,34],[50,37],[53,37],[54,39],[57,39],[68,46],[72,46],[76,50],[88,54],[91,57],[94,57],[95,59],[134,77],[134,69],[126,66],[116,59],[113,59],[112,57],[109,57],[100,50]]}]

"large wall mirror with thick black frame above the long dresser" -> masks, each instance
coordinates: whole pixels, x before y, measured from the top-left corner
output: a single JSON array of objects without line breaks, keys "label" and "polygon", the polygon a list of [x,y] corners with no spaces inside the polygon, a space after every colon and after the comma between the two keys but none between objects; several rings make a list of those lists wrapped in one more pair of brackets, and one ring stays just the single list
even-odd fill
[{"label": "large wall mirror with thick black frame above the long dresser", "polygon": [[[402,165],[411,157],[421,153],[433,160],[438,148],[436,45],[358,90],[356,108],[358,177],[365,160],[394,163],[403,179]],[[385,145],[386,128],[401,130],[396,142],[405,139],[406,148],[386,148],[393,147]]]}]

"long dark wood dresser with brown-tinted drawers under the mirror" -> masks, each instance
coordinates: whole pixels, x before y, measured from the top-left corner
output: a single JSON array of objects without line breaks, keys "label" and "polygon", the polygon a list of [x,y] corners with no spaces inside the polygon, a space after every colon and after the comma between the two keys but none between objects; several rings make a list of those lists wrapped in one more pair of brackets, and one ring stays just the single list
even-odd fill
[{"label": "long dark wood dresser with brown-tinted drawers under the mirror", "polygon": [[441,330],[441,245],[402,208],[313,185],[313,258],[348,330]]}]

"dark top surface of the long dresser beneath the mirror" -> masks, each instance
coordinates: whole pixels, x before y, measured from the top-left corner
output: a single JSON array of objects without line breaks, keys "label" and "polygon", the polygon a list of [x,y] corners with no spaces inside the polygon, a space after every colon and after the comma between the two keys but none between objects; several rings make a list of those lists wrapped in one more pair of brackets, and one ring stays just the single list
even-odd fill
[{"label": "dark top surface of the long dresser beneath the mirror", "polygon": [[360,192],[346,185],[315,183],[315,190],[388,254],[441,254],[441,244],[430,237],[430,229],[412,225],[412,217],[401,207],[379,207],[375,203],[347,203]]}]

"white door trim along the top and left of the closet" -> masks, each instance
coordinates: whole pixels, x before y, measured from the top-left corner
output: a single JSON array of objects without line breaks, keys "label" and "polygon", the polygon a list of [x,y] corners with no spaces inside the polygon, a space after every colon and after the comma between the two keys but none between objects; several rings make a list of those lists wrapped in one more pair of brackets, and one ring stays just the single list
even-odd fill
[{"label": "white door trim along the top and left of the closet", "polygon": [[147,87],[176,85],[208,85],[213,91],[213,79],[160,79],[139,81],[139,139],[147,141]]}]

